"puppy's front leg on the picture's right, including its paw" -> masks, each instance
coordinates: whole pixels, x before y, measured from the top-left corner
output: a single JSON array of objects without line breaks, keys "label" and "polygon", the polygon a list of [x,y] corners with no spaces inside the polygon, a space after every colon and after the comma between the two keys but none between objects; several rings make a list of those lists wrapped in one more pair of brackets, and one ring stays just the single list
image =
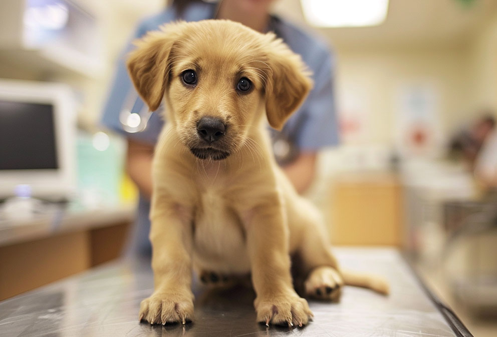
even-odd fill
[{"label": "puppy's front leg on the picture's right, including its paw", "polygon": [[279,198],[247,211],[245,225],[257,320],[267,325],[306,324],[312,311],[292,284],[289,233]]}]

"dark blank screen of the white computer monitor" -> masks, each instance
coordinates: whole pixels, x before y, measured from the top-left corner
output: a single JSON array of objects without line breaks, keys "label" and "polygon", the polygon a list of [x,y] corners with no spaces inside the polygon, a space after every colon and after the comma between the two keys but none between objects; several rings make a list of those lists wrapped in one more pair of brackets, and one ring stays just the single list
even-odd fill
[{"label": "dark blank screen of the white computer monitor", "polygon": [[53,110],[0,99],[0,170],[59,168]]}]

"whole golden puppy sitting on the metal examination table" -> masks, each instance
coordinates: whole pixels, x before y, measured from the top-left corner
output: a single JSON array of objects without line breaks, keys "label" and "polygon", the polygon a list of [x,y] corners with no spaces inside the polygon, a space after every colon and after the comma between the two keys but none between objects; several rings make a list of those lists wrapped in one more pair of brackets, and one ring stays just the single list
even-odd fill
[{"label": "whole golden puppy sitting on the metal examination table", "polygon": [[281,129],[312,87],[301,58],[273,33],[230,21],[165,25],[136,42],[129,75],[167,123],[153,159],[154,291],[139,318],[193,319],[192,268],[251,274],[257,320],[300,325],[312,316],[292,283],[299,260],[304,292],[336,299],[343,284],[386,293],[381,279],[343,272],[323,221],[271,152],[266,121]]}]

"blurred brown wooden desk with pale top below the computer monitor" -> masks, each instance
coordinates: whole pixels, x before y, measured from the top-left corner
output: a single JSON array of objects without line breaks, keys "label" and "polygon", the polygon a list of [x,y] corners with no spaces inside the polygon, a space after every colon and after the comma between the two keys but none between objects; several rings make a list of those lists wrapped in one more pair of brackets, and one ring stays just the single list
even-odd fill
[{"label": "blurred brown wooden desk with pale top below the computer monitor", "polygon": [[120,256],[132,209],[84,211],[53,222],[0,226],[0,300]]}]

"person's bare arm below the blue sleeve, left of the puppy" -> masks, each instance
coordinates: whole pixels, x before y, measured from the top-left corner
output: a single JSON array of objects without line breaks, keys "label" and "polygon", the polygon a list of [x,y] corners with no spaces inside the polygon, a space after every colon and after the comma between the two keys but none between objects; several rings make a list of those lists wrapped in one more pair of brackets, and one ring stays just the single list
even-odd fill
[{"label": "person's bare arm below the blue sleeve, left of the puppy", "polygon": [[153,145],[140,143],[128,138],[126,172],[140,190],[150,199],[152,196],[152,157]]}]

